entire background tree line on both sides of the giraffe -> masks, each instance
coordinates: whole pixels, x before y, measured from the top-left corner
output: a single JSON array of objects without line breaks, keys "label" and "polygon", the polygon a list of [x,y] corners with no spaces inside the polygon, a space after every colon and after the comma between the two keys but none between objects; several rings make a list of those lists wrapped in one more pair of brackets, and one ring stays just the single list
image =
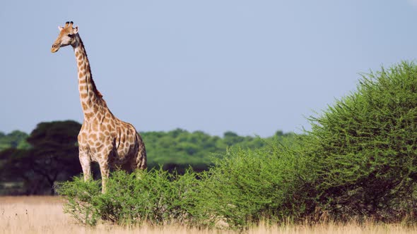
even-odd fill
[{"label": "entire background tree line on both sides of the giraffe", "polygon": [[[32,133],[19,130],[0,132],[0,195],[54,194],[57,181],[70,180],[80,174],[77,135],[81,124],[76,121],[39,123]],[[202,131],[190,133],[180,128],[168,132],[141,133],[148,154],[148,168],[184,173],[206,171],[216,157],[229,147],[257,149],[273,138],[290,144],[294,133],[277,131],[273,137],[240,136],[225,132],[222,137]],[[93,176],[100,169],[93,164]]]}]

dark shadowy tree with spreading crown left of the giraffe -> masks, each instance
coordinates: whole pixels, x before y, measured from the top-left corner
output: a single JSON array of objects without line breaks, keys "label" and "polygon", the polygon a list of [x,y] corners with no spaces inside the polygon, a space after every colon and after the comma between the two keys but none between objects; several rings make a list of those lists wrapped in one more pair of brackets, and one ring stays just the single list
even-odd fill
[{"label": "dark shadowy tree with spreading crown left of the giraffe", "polygon": [[42,193],[45,185],[54,194],[55,181],[81,173],[76,145],[80,129],[75,121],[39,123],[27,139],[30,149],[1,152],[1,178],[23,180],[28,194]]}]

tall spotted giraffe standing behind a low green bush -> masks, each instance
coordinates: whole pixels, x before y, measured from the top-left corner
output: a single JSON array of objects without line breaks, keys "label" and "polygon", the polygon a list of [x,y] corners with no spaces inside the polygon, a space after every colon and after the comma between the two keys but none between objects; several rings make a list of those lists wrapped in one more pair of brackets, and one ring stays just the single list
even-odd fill
[{"label": "tall spotted giraffe standing behind a low green bush", "polygon": [[59,35],[52,44],[51,52],[71,45],[78,68],[78,91],[84,121],[78,133],[78,150],[84,181],[90,179],[91,162],[97,161],[102,176],[102,193],[110,171],[116,167],[126,171],[146,169],[146,149],[141,135],[130,123],[119,120],[107,107],[102,94],[97,90],[91,75],[90,63],[78,27],[66,22],[59,28]]}]

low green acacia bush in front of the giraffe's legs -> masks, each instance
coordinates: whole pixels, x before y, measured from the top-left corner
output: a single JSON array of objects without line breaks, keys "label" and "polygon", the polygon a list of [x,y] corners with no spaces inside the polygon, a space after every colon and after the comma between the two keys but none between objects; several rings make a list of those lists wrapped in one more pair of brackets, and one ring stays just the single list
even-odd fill
[{"label": "low green acacia bush in front of the giraffe's legs", "polygon": [[187,171],[175,176],[167,171],[124,171],[112,173],[107,192],[101,193],[100,180],[84,183],[82,178],[61,183],[60,195],[66,198],[64,211],[81,223],[95,225],[111,221],[122,225],[192,222],[193,192],[198,180]]}]

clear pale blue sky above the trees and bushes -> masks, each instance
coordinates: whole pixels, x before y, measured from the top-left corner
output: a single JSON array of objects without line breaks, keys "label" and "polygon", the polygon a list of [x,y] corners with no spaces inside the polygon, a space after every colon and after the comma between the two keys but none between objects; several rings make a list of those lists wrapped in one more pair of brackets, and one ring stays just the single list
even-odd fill
[{"label": "clear pale blue sky above the trees and bushes", "polygon": [[[110,1],[109,1],[110,2]],[[72,20],[112,112],[141,131],[273,135],[417,56],[417,1],[1,1],[0,131],[82,121]]]}]

